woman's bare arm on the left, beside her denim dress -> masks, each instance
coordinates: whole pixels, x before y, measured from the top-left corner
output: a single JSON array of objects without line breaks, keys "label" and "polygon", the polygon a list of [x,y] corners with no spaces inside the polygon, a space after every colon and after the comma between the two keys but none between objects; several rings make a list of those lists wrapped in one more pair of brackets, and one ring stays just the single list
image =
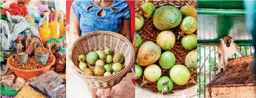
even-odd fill
[{"label": "woman's bare arm on the left, beside her denim dress", "polygon": [[81,29],[80,29],[80,26],[79,26],[79,19],[78,17],[76,17],[75,15],[75,12],[73,10],[73,7],[71,6],[71,9],[70,9],[70,17],[69,17],[69,24],[70,24],[70,27],[69,27],[69,46],[72,46],[73,43],[78,40],[78,38],[80,37],[81,35]]}]

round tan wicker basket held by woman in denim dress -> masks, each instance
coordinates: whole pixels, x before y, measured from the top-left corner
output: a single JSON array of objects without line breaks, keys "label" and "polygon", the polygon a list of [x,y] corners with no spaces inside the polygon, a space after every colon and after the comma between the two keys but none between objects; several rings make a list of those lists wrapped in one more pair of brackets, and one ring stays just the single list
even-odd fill
[{"label": "round tan wicker basket held by woman in denim dress", "polygon": [[[121,53],[124,56],[123,70],[110,76],[91,76],[78,68],[78,56],[86,55],[91,51],[104,50],[106,47],[112,53]],[[135,50],[132,43],[126,37],[111,31],[93,31],[81,36],[70,50],[69,58],[75,74],[81,77],[88,86],[93,88],[110,88],[119,83],[135,64]],[[87,65],[90,68],[94,66]]]}]

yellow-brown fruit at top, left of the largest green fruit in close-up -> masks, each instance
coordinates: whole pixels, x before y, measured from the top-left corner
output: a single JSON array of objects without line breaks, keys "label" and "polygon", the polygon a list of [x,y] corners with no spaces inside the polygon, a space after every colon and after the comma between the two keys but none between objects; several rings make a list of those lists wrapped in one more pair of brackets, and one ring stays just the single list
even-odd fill
[{"label": "yellow-brown fruit at top, left of the largest green fruit in close-up", "polygon": [[146,18],[151,17],[154,14],[154,11],[156,11],[156,7],[150,2],[145,2],[141,4],[140,8],[142,9],[143,15]]}]

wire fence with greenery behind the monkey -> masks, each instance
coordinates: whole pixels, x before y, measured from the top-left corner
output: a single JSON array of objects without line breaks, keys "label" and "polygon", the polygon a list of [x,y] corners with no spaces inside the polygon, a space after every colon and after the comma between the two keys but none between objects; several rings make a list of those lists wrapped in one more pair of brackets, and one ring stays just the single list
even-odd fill
[{"label": "wire fence with greenery behind the monkey", "polygon": [[[237,43],[240,51],[248,56],[255,54],[255,48],[251,43]],[[218,56],[217,47],[204,47],[198,45],[198,96],[205,97],[206,85],[218,73]],[[237,54],[231,56],[232,58],[239,57]]]}]

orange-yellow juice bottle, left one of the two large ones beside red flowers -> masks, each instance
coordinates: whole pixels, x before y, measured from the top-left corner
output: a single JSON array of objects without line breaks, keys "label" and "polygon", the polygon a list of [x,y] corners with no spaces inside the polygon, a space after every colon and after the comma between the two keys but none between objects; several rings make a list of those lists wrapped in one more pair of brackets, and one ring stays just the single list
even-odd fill
[{"label": "orange-yellow juice bottle, left one of the two large ones beside red flowers", "polygon": [[44,12],[43,27],[39,30],[39,34],[43,44],[46,44],[47,40],[51,39],[51,29],[49,28],[49,12]]}]

